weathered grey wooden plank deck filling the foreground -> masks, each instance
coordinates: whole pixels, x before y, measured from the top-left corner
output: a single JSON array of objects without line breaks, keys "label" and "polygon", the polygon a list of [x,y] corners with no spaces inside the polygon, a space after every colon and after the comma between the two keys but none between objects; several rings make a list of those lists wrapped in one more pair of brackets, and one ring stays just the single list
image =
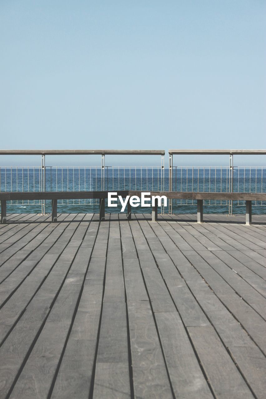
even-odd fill
[{"label": "weathered grey wooden plank deck filling the foreground", "polygon": [[265,398],[266,216],[8,215],[0,397]]}]

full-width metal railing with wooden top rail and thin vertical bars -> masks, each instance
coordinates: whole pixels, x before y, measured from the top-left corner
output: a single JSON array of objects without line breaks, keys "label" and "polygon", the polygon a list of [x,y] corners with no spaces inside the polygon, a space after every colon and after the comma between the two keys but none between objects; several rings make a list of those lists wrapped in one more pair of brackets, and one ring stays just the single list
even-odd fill
[{"label": "full-width metal railing with wooden top rail and thin vertical bars", "polygon": [[[266,150],[169,150],[169,170],[164,168],[164,150],[0,150],[0,155],[41,155],[41,166],[0,167],[0,191],[202,191],[202,192],[266,192],[264,166],[233,165],[235,154],[266,154]],[[46,155],[91,155],[101,156],[100,166],[46,166]],[[105,166],[105,155],[160,155],[157,166]],[[173,155],[180,154],[227,154],[228,166],[173,166]],[[97,205],[96,200],[61,200],[58,205]],[[41,207],[45,213],[49,201],[10,201],[8,205]],[[164,211],[182,212],[187,205],[195,206],[193,200],[170,200]],[[232,201],[204,201],[204,205],[216,205],[223,211],[228,207],[232,213]],[[234,201],[234,206],[244,205]],[[265,206],[265,201],[254,205]],[[183,207],[184,206],[184,207]],[[38,208],[39,209],[39,208]],[[193,208],[191,208],[193,209]],[[217,209],[217,207],[216,207]],[[34,208],[36,210],[36,208]],[[137,211],[137,209],[136,209]],[[141,211],[141,210],[140,210]]]}]

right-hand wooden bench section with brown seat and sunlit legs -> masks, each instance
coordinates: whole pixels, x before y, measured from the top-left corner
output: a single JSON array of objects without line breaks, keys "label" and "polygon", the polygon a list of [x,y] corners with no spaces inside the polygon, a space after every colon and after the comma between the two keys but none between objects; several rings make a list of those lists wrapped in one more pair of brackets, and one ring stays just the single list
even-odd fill
[{"label": "right-hand wooden bench section with brown seat and sunlit legs", "polygon": [[[141,196],[140,191],[129,191],[130,196]],[[203,222],[203,201],[210,200],[232,200],[246,201],[246,224],[251,224],[252,201],[266,201],[266,193],[203,193],[203,192],[177,192],[163,191],[151,192],[151,196],[166,196],[167,199],[197,199],[197,222]],[[157,221],[158,200],[155,199],[155,206],[152,207],[152,221]]]}]

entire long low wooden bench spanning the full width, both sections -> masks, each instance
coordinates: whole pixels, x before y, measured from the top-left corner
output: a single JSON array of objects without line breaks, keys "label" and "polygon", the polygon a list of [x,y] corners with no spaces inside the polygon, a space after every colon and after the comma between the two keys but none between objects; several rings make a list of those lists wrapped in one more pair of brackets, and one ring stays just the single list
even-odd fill
[{"label": "entire long low wooden bench spanning the full width, both sections", "polygon": [[[139,196],[140,191],[118,191],[117,196]],[[6,223],[6,201],[10,200],[52,200],[52,222],[57,221],[58,199],[99,199],[99,218],[105,216],[105,199],[107,191],[68,191],[68,192],[5,192],[0,193],[1,200],[1,223]],[[252,201],[266,201],[266,194],[262,193],[201,193],[201,192],[151,192],[151,196],[166,196],[167,199],[197,199],[197,222],[203,222],[203,200],[233,200],[246,201],[246,224],[252,221]],[[127,217],[131,219],[131,206],[127,203]],[[157,221],[158,200],[155,199],[155,206],[152,207],[152,220]]]}]

